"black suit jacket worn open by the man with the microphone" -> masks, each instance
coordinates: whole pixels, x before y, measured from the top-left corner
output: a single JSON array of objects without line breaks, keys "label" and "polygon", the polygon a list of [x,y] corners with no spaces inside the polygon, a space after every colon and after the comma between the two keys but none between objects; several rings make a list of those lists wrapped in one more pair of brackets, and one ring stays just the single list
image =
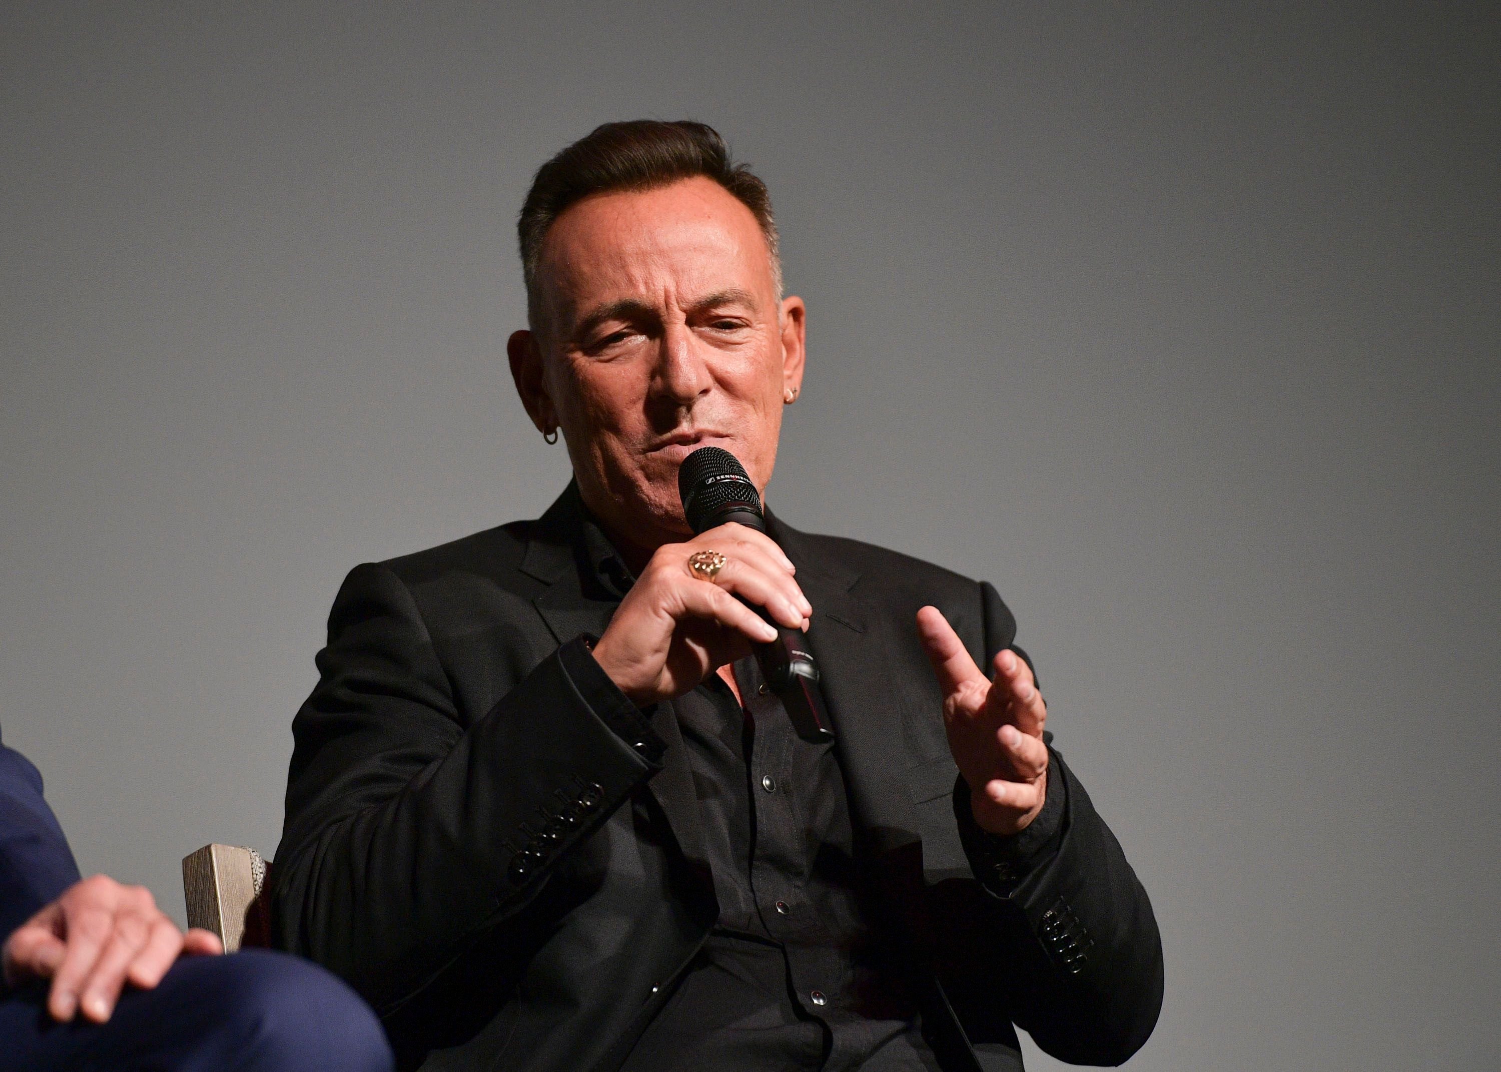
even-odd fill
[{"label": "black suit jacket worn open by the man with the microphone", "polygon": [[[275,938],[348,979],[407,1064],[614,1069],[716,917],[672,704],[651,712],[659,740],[630,740],[578,688],[597,665],[576,638],[614,611],[585,595],[581,516],[570,486],[540,521],[356,568],[293,724]],[[772,524],[944,1067],[1019,1069],[1013,1022],[1064,1060],[1126,1060],[1157,1018],[1162,949],[1084,788],[1054,752],[1061,830],[1019,872],[956,818],[916,613],[938,607],[986,665],[1010,611],[989,584]]]}]

